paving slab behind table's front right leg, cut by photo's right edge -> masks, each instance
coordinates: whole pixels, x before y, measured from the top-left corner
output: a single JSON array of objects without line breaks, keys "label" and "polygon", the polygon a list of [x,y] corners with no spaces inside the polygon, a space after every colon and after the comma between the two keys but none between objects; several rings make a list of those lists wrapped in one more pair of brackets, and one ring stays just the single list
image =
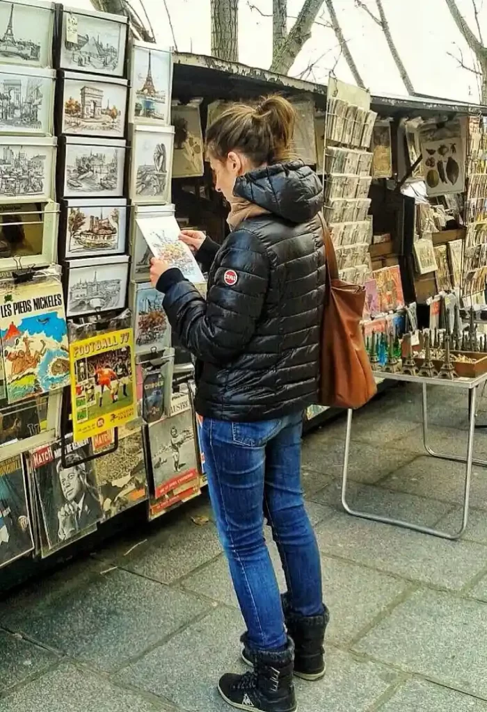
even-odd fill
[{"label": "paving slab behind table's front right leg, cut by photo's right edge", "polygon": [[[424,456],[417,457],[380,482],[389,490],[461,504],[464,499],[465,465]],[[487,469],[472,468],[471,506],[487,509]]]}]

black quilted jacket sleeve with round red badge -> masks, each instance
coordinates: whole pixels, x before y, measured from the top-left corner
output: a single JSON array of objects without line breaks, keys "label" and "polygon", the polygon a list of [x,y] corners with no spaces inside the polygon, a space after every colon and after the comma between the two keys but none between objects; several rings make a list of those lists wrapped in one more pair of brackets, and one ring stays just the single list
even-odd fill
[{"label": "black quilted jacket sleeve with round red badge", "polygon": [[255,333],[268,281],[265,249],[252,233],[237,230],[221,247],[206,300],[190,282],[179,279],[165,293],[164,310],[182,346],[194,356],[214,364],[229,362]]}]

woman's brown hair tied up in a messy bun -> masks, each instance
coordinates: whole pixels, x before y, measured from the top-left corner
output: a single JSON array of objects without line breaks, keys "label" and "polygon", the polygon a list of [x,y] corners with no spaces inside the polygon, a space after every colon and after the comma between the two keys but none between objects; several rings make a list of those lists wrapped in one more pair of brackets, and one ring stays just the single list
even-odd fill
[{"label": "woman's brown hair tied up in a messy bun", "polygon": [[296,115],[287,99],[273,94],[257,105],[234,104],[206,130],[206,150],[224,161],[230,151],[244,153],[256,166],[293,157]]}]

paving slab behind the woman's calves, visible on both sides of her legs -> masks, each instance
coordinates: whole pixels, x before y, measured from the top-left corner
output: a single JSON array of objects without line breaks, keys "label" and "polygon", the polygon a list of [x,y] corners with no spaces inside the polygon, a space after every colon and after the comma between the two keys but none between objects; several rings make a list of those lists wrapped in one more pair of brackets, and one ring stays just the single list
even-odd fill
[{"label": "paving slab behind the woman's calves, visible on both sides of her legs", "polygon": [[[286,590],[275,548],[271,555],[282,591]],[[323,595],[331,612],[327,640],[349,644],[377,615],[409,590],[408,582],[345,561],[322,557]],[[184,581],[185,590],[238,607],[226,560],[221,557]]]}]

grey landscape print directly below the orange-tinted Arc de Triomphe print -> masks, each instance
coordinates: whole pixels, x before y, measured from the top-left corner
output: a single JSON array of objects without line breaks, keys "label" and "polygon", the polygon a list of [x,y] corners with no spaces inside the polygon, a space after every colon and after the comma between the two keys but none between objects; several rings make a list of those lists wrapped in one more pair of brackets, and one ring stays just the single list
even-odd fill
[{"label": "grey landscape print directly below the orange-tinted Arc de Triomphe print", "polygon": [[68,143],[65,195],[122,195],[124,162],[124,147]]}]

